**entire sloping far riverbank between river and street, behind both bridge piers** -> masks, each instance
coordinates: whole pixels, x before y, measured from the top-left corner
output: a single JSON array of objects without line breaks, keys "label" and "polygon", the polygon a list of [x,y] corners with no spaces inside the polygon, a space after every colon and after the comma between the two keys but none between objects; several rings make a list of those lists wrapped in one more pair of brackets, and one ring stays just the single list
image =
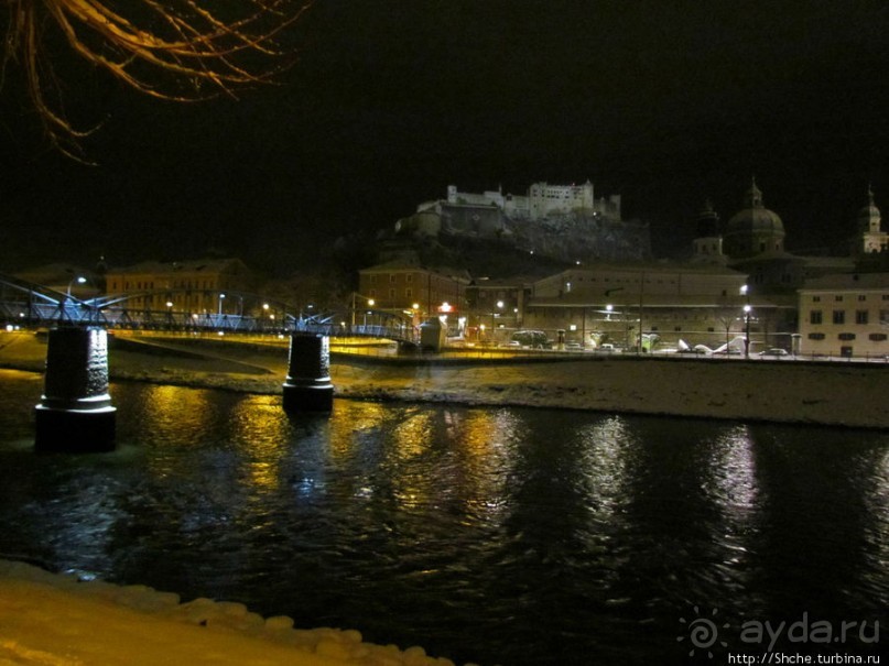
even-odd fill
[{"label": "entire sloping far riverbank between river and street, behind both bridge piers", "polygon": [[[42,370],[45,345],[33,334],[4,335],[0,365]],[[286,348],[273,345],[129,338],[110,353],[112,380],[273,394],[286,372]],[[889,428],[882,363],[585,353],[332,360],[336,395],[348,398]]]}]

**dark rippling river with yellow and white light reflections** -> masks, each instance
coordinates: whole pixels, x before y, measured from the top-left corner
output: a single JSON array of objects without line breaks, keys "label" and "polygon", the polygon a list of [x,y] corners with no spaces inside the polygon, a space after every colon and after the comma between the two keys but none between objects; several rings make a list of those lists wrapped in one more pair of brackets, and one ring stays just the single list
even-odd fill
[{"label": "dark rippling river with yellow and white light reflections", "polygon": [[866,655],[889,631],[889,433],[339,400],[288,416],[121,383],[115,452],[36,455],[41,390],[0,371],[0,556],[457,663],[725,664],[780,622],[799,631],[774,651]]}]

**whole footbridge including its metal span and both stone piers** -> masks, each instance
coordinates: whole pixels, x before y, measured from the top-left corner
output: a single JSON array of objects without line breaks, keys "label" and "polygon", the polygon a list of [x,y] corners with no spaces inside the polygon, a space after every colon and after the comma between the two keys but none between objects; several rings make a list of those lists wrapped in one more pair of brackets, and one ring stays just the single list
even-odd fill
[{"label": "whole footbridge including its metal span and both stone piers", "polygon": [[[333,410],[330,337],[372,337],[415,345],[412,323],[398,314],[344,308],[306,315],[281,302],[245,292],[147,291],[82,298],[0,274],[0,324],[7,329],[48,328],[44,392],[34,408],[39,450],[106,451],[115,447],[116,407],[108,391],[109,328],[220,334],[290,334],[286,411]],[[177,298],[178,296],[178,298]],[[191,296],[186,297],[186,296]],[[203,299],[194,298],[203,296]],[[218,303],[216,313],[176,310],[175,303]],[[237,313],[225,312],[237,304]],[[162,312],[144,304],[163,302]],[[130,307],[142,305],[142,308]],[[229,305],[229,307],[234,307]],[[296,314],[299,313],[299,314]],[[310,335],[299,335],[310,334]]]}]

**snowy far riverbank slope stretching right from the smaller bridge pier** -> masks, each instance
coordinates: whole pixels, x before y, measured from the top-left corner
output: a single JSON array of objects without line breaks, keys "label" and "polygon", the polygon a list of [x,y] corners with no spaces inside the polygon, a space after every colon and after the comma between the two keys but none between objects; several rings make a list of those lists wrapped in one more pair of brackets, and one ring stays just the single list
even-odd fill
[{"label": "snowy far riverbank slope stretching right from the smaller bridge pier", "polygon": [[340,363],[339,395],[886,428],[881,364],[658,358],[500,365]]}]

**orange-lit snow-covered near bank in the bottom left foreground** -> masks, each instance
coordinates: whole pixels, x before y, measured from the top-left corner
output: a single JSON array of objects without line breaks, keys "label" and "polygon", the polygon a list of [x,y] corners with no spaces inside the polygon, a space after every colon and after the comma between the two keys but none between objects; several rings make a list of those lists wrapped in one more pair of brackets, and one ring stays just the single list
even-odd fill
[{"label": "orange-lit snow-covered near bank in the bottom left foreground", "polygon": [[243,604],[119,587],[0,560],[0,666],[447,666],[354,630],[293,629]]}]

